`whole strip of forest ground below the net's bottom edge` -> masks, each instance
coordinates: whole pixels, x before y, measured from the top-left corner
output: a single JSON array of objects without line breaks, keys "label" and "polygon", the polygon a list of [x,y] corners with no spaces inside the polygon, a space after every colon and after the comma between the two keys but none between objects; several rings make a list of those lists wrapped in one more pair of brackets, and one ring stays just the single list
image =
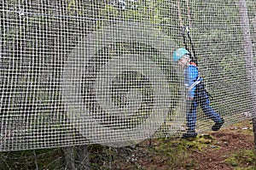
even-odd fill
[{"label": "whole strip of forest ground below the net's bottom edge", "polygon": [[[90,144],[88,152],[90,164],[84,166],[78,160],[78,169],[89,166],[91,170],[256,170],[253,123],[249,121],[200,134],[193,140],[147,139],[122,148]],[[0,170],[64,170],[66,158],[60,148],[1,153]]]}]

